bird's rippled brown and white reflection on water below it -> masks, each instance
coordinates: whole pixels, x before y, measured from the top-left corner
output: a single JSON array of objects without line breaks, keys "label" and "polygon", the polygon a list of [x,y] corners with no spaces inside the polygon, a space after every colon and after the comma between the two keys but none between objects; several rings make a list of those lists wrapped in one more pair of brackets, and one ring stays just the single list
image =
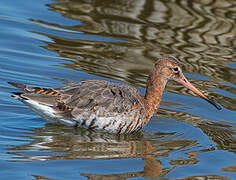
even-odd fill
[{"label": "bird's rippled brown and white reflection on water below it", "polygon": [[141,158],[144,161],[143,170],[138,172],[108,175],[81,172],[81,175],[90,179],[164,176],[173,171],[176,165],[163,168],[160,158],[168,157],[171,152],[196,145],[196,141],[193,140],[178,140],[175,132],[115,135],[48,124],[27,134],[33,139],[29,144],[8,149],[17,160]]}]

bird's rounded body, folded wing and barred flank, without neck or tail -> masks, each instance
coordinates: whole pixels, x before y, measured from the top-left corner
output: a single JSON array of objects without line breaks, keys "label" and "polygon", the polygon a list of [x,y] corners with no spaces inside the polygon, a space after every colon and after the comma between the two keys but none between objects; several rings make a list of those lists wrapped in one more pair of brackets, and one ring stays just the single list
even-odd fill
[{"label": "bird's rounded body, folded wing and barred flank, without neck or tail", "polygon": [[[57,91],[72,108],[79,126],[110,132],[132,132],[144,126],[145,109],[137,89],[103,80],[68,84]],[[61,114],[61,112],[59,112]]]}]

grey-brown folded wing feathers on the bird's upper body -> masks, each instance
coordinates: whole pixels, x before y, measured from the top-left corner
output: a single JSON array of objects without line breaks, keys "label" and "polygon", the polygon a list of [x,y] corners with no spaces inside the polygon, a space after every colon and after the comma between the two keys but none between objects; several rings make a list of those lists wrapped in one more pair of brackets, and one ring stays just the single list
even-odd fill
[{"label": "grey-brown folded wing feathers on the bird's upper body", "polygon": [[[58,93],[65,105],[76,108],[76,114],[84,111],[103,111],[112,113],[128,113],[133,106],[143,108],[140,93],[133,87],[103,80],[86,80],[68,84]],[[137,109],[137,108],[136,108]]]}]

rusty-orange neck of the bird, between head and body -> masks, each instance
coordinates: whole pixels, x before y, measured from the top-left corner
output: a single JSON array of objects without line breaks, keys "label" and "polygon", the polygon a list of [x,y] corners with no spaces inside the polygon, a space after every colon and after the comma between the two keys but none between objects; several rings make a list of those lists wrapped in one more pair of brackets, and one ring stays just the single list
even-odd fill
[{"label": "rusty-orange neck of the bird, between head and body", "polygon": [[166,80],[161,77],[149,76],[147,80],[146,94],[144,97],[146,109],[146,123],[150,120],[152,115],[157,112],[163,91],[166,86]]}]

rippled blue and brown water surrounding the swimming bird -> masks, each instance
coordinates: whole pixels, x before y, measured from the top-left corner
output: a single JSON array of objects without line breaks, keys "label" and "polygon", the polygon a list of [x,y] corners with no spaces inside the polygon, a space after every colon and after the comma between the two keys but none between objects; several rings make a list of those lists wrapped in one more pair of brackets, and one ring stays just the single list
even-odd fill
[{"label": "rippled blue and brown water surrounding the swimming bird", "polygon": [[[2,0],[1,178],[236,179],[235,24],[234,0]],[[106,79],[144,94],[166,55],[223,109],[170,82],[150,123],[118,136],[45,124],[7,84]]]}]

